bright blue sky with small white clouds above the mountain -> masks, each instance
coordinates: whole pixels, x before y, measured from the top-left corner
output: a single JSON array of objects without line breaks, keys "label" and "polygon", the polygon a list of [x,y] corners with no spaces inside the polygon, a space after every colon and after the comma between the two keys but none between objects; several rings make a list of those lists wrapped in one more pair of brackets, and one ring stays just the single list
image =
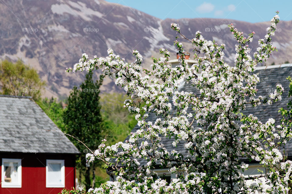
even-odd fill
[{"label": "bright blue sky with small white clouds above the mountain", "polygon": [[280,11],[280,20],[292,20],[292,1],[270,0],[107,0],[126,5],[155,17],[228,18],[246,22],[270,21]]}]

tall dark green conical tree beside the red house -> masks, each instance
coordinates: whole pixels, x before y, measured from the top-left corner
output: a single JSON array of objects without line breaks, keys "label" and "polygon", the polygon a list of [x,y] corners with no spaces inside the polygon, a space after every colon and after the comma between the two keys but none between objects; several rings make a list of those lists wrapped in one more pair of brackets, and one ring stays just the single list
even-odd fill
[{"label": "tall dark green conical tree beside the red house", "polygon": [[[63,112],[64,131],[84,142],[89,149],[95,150],[104,138],[104,125],[99,105],[99,87],[102,81],[94,82],[92,72],[86,75],[85,81],[76,86],[68,97],[68,106]],[[79,181],[86,189],[95,186],[95,166],[85,167],[85,155],[88,149],[76,139],[69,137],[81,152],[76,168]],[[94,175],[94,176],[93,176]],[[92,180],[92,182],[91,182]]]}]

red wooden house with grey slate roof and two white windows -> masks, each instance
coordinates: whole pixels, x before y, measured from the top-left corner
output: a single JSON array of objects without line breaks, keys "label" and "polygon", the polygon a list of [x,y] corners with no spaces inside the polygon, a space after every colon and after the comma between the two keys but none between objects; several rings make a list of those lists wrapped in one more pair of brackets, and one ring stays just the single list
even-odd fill
[{"label": "red wooden house with grey slate roof and two white windows", "polygon": [[0,95],[0,194],[75,186],[77,148],[30,97]]}]

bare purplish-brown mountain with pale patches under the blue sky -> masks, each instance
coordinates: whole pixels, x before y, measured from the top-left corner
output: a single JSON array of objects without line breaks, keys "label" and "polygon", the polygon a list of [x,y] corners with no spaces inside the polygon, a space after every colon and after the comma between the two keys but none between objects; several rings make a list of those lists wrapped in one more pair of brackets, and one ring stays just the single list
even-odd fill
[{"label": "bare purplish-brown mountain with pale patches under the blue sky", "polygon": [[[133,61],[132,50],[137,49],[144,57],[144,67],[151,65],[151,55],[158,56],[164,47],[176,57],[173,45],[176,33],[172,22],[178,23],[181,32],[192,39],[200,30],[206,39],[226,44],[225,61],[232,65],[236,41],[229,32],[231,22],[245,35],[254,31],[250,47],[257,47],[269,22],[248,23],[230,19],[165,19],[161,20],[130,7],[103,0],[2,0],[0,1],[0,56],[15,61],[22,59],[37,69],[47,81],[44,96],[68,95],[74,85],[80,85],[85,73],[66,73],[82,53],[106,56],[112,48],[128,62]],[[281,15],[280,15],[281,17]],[[283,16],[284,17],[284,16]],[[273,38],[277,47],[266,64],[292,62],[292,22],[281,21]],[[186,51],[192,45],[183,41]],[[123,91],[106,79],[102,91]]]}]

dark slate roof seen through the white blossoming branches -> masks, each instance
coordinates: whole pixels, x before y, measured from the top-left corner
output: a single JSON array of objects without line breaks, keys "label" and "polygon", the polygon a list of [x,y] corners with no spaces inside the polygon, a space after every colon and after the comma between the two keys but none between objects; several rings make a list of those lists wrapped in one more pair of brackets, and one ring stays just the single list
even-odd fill
[{"label": "dark slate roof seen through the white blossoming branches", "polygon": [[[287,108],[288,102],[288,91],[289,91],[289,81],[286,79],[289,75],[292,76],[292,64],[284,64],[284,65],[273,65],[273,66],[265,66],[265,67],[258,67],[254,72],[259,76],[260,82],[257,85],[257,95],[266,95],[268,96],[269,93],[272,93],[273,90],[276,89],[277,84],[282,84],[284,87],[284,92],[282,94],[282,100],[279,102],[275,102],[272,105],[260,105],[258,107],[252,107],[251,105],[247,105],[246,110],[243,111],[245,115],[253,114],[257,116],[260,121],[263,123],[266,122],[269,118],[274,118],[276,120],[276,125],[280,124],[280,120],[283,118],[278,110],[280,107]],[[198,94],[198,90],[191,84],[184,84],[180,87],[180,91],[185,92],[194,92]],[[191,111],[191,108],[188,109]],[[150,113],[147,121],[155,122],[158,117],[154,113]],[[193,126],[196,127],[196,122],[193,123]],[[136,125],[132,132],[136,132],[139,129],[139,126]],[[128,137],[127,137],[128,139]],[[126,139],[126,140],[127,140]],[[174,147],[172,146],[172,139],[165,139],[162,137],[162,143],[164,144],[165,148],[169,151],[173,150]],[[176,151],[182,153],[183,155],[187,155],[187,151],[184,148],[184,144],[178,144],[175,148]],[[287,142],[286,144],[286,151],[288,151],[288,156],[292,157],[292,141]],[[244,158],[243,158],[244,159]],[[141,159],[139,160],[141,165],[146,164],[146,160]]]}]

